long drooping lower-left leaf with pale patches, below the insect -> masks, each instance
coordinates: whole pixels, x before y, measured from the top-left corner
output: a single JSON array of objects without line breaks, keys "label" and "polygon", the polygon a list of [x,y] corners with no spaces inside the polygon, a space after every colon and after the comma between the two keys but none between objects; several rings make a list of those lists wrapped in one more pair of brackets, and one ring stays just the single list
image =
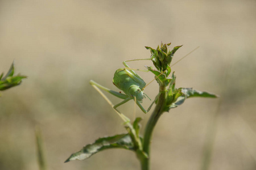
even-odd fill
[{"label": "long drooping lower-left leaf with pale patches, below the insect", "polygon": [[134,151],[133,147],[133,142],[131,141],[129,134],[119,134],[114,135],[113,137],[100,138],[93,144],[86,145],[82,150],[69,156],[65,163],[71,160],[84,160],[90,158],[93,154],[109,148],[124,148],[126,150]]}]

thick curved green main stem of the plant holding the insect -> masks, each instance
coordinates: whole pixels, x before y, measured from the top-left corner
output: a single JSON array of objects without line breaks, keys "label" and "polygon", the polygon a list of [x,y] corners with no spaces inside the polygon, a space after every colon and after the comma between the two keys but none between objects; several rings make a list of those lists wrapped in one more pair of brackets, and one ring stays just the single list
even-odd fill
[{"label": "thick curved green main stem of the plant holding the insect", "polygon": [[158,122],[159,117],[164,112],[164,105],[166,103],[166,86],[164,84],[159,85],[159,95],[158,103],[154,109],[154,112],[151,114],[150,119],[147,122],[145,133],[144,133],[144,142],[143,142],[143,151],[148,155],[148,158],[141,158],[141,169],[149,170],[150,169],[150,144],[152,132],[155,128],[156,122]]}]

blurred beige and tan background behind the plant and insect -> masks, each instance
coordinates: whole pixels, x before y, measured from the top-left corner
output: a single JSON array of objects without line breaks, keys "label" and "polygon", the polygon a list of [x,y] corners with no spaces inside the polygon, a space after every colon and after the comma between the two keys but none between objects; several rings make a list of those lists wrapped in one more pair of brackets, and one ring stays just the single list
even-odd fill
[{"label": "blurred beige and tan background behind the plant and insect", "polygon": [[[255,16],[253,0],[1,0],[0,73],[15,60],[16,74],[28,78],[0,98],[0,169],[38,169],[35,126],[42,129],[48,169],[139,169],[126,150],[64,161],[99,137],[126,132],[89,80],[119,91],[115,70],[127,59],[149,58],[144,46],[161,42],[183,45],[173,63],[200,46],[172,67],[176,87],[220,98],[189,99],[163,114],[152,138],[152,169],[256,169]],[[152,63],[129,65],[143,70]],[[158,84],[144,92],[154,99]],[[133,108],[130,101],[120,111],[133,118]],[[150,113],[137,108],[136,116],[144,127]]]}]

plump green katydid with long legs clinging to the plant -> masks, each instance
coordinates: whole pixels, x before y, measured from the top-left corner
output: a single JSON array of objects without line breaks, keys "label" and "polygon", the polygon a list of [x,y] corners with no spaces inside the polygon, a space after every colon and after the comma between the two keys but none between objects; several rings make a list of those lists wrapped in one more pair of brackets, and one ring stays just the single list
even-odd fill
[{"label": "plump green katydid with long legs clinging to the plant", "polygon": [[[127,61],[150,60],[150,59],[151,58],[132,59]],[[134,100],[135,103],[138,105],[138,107],[142,110],[142,112],[147,113],[148,111],[150,111],[155,101],[152,102],[152,104],[147,110],[142,107],[141,103],[144,98],[143,90],[146,87],[146,83],[141,78],[141,76],[135,73],[135,71],[126,64],[127,61],[123,62],[123,65],[125,65],[125,68],[118,69],[117,71],[115,71],[114,78],[113,78],[113,84],[117,88],[122,90],[125,94],[121,94],[120,92],[109,90],[108,88],[101,86],[100,84],[94,82],[93,80],[90,80],[90,84],[94,88],[100,88],[101,90],[109,92],[110,94],[120,99],[124,99],[121,103],[118,103],[113,106],[115,110],[117,107],[119,107],[122,104],[125,104],[127,101]]]}]

